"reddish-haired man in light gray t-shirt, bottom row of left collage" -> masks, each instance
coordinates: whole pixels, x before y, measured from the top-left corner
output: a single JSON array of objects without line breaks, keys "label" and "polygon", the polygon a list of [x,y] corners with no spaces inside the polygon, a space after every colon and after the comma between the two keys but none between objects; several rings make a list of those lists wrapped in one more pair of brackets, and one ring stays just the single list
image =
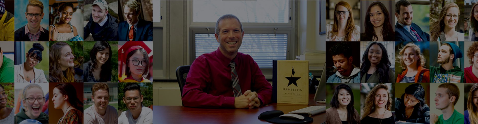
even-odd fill
[{"label": "reddish-haired man in light gray t-shirt, bottom row of left collage", "polygon": [[85,124],[118,124],[116,108],[108,105],[109,88],[106,83],[95,83],[91,87],[91,99],[95,104],[85,109]]}]

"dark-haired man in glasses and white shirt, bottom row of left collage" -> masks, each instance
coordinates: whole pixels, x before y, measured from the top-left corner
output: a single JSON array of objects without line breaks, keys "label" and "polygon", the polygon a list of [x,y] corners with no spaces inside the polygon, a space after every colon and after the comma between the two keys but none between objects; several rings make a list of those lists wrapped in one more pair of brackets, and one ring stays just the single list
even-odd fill
[{"label": "dark-haired man in glasses and white shirt, bottom row of left collage", "polygon": [[128,110],[121,113],[118,124],[152,124],[152,110],[142,105],[143,95],[140,85],[127,83],[123,92],[123,103]]}]

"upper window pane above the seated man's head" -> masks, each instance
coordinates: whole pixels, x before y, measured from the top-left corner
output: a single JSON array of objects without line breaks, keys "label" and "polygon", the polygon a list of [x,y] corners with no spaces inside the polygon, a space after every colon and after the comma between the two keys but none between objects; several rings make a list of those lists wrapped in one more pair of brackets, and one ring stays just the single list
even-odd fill
[{"label": "upper window pane above the seated man's head", "polygon": [[233,14],[241,22],[289,22],[288,0],[195,0],[194,22],[216,22],[225,14]]}]

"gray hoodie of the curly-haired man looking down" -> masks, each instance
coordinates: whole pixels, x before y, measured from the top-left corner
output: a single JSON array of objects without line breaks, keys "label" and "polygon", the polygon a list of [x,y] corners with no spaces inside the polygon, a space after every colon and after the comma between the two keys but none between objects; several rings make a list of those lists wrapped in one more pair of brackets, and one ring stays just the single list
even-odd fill
[{"label": "gray hoodie of the curly-haired man looking down", "polygon": [[348,77],[343,76],[337,71],[328,77],[327,83],[360,83],[360,68],[354,65],[354,69]]}]

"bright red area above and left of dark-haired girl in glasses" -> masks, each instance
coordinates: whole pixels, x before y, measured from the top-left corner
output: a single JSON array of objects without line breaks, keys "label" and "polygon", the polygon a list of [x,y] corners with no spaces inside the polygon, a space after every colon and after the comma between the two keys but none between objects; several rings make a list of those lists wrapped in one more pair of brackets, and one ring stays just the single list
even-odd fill
[{"label": "bright red area above and left of dark-haired girl in glasses", "polygon": [[121,63],[119,71],[120,77],[123,76],[123,63],[126,64],[126,57],[128,56],[128,53],[138,49],[144,49],[148,54],[152,52],[151,49],[143,41],[126,41],[126,43],[124,43],[123,46],[118,49],[118,60],[120,60]]}]

